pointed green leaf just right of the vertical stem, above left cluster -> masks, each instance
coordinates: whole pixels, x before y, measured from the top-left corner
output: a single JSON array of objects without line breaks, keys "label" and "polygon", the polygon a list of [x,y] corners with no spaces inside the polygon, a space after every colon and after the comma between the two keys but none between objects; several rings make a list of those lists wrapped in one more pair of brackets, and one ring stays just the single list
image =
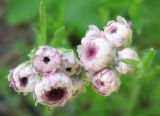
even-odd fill
[{"label": "pointed green leaf just right of the vertical stem, above left cluster", "polygon": [[70,48],[70,43],[67,39],[65,27],[59,28],[51,40],[50,45],[56,48]]}]

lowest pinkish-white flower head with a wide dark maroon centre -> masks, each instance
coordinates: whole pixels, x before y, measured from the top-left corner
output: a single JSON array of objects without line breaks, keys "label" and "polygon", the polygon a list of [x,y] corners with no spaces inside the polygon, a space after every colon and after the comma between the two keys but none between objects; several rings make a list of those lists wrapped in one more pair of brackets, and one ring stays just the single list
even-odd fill
[{"label": "lowest pinkish-white flower head with a wide dark maroon centre", "polygon": [[64,73],[48,74],[35,86],[33,95],[37,103],[64,106],[72,96],[72,81]]}]

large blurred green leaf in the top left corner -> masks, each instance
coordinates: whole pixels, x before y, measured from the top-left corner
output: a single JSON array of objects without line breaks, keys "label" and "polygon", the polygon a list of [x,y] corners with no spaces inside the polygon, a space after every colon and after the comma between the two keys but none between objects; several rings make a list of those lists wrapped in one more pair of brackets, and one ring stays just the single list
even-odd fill
[{"label": "large blurred green leaf in the top left corner", "polygon": [[6,13],[6,20],[18,25],[33,19],[38,12],[39,0],[11,0]]}]

